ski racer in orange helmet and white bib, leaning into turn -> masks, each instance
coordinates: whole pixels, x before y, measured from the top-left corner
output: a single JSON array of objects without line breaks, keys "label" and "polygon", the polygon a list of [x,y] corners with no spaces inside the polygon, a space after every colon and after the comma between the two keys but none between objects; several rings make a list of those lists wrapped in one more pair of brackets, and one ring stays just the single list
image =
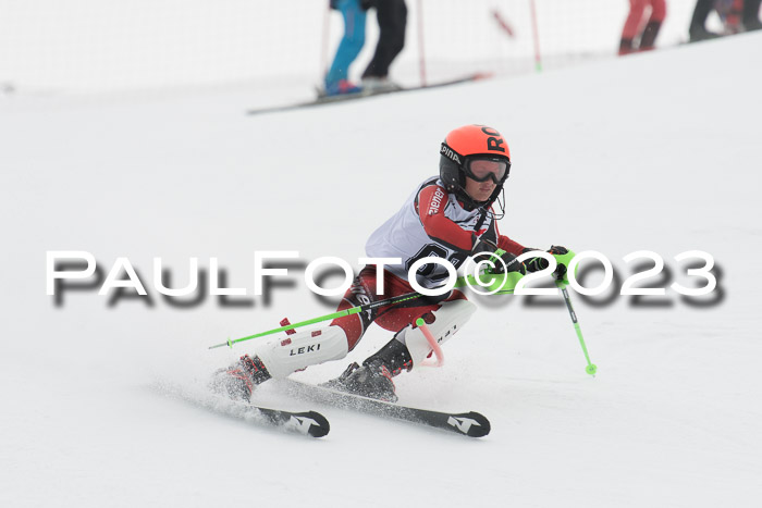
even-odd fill
[{"label": "ski racer in orange helmet and white bib, leaning into turn", "polygon": [[[358,307],[414,292],[408,269],[418,259],[439,257],[456,269],[476,253],[505,252],[494,273],[543,270],[548,261],[531,258],[526,263],[516,256],[537,249],[501,235],[493,202],[503,191],[511,170],[511,153],[503,136],[483,125],[466,125],[447,134],[440,149],[440,173],[420,184],[397,213],[370,235],[366,252],[371,258],[400,258],[382,272],[383,294],[376,265],[366,265],[347,289],[337,310]],[[566,253],[551,247],[551,253]],[[558,264],[555,276],[565,275]],[[447,270],[427,263],[416,272],[417,282],[428,288],[447,278]],[[249,400],[254,387],[271,377],[282,379],[309,365],[344,358],[371,323],[394,333],[393,338],[362,365],[352,363],[327,385],[345,392],[396,401],[392,377],[410,371],[430,354],[431,347],[416,320],[422,318],[442,344],[459,331],[476,306],[458,289],[440,297],[421,297],[335,319],[329,326],[272,338],[244,355],[228,369],[218,371],[212,386],[233,398]]]}]

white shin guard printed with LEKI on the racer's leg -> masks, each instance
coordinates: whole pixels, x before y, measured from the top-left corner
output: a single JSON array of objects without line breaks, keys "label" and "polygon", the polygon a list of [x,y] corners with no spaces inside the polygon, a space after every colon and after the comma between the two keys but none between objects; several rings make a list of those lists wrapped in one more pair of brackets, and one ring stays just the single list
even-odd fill
[{"label": "white shin guard printed with LEKI on the racer's leg", "polygon": [[297,332],[286,338],[270,339],[256,348],[257,356],[275,379],[309,365],[339,360],[348,351],[346,334],[340,326]]}]

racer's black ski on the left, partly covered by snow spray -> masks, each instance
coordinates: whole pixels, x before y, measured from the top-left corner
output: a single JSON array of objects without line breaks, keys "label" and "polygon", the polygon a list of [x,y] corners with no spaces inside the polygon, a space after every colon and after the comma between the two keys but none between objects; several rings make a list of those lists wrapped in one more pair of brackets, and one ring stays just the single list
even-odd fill
[{"label": "racer's black ski on the left, partly covered by snow spray", "polygon": [[163,395],[190,402],[225,417],[244,420],[248,423],[272,425],[286,432],[322,437],[329,433],[331,425],[325,417],[317,411],[294,412],[283,409],[270,409],[243,400],[232,400],[225,396],[210,393],[193,393],[181,386],[161,383],[156,385]]}]

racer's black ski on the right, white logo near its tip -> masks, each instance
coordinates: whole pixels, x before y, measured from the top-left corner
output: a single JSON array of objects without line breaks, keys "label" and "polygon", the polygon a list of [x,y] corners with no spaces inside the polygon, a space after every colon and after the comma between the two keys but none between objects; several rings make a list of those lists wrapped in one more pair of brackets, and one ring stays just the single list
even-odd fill
[{"label": "racer's black ski on the right, white logo near its tip", "polygon": [[322,402],[342,409],[374,414],[394,420],[419,423],[469,437],[482,437],[490,433],[490,421],[476,411],[451,413],[413,408],[385,402],[360,395],[348,394],[324,386],[316,386],[294,380],[282,382],[292,396]]}]

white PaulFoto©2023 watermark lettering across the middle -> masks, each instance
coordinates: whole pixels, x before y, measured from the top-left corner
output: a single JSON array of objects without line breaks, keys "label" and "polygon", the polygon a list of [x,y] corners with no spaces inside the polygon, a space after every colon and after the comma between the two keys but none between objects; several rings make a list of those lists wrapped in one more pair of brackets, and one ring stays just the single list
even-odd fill
[{"label": "white PaulFoto\u00a92023 watermark lettering across the middle", "polygon": [[[551,275],[557,268],[557,262],[554,256],[549,252],[536,250],[525,252],[518,256],[517,260],[524,262],[531,258],[541,257],[548,261],[548,267],[541,271],[530,272],[520,276],[517,281],[511,282],[509,290],[506,285],[509,284],[508,277],[496,278],[489,272],[494,270],[495,263],[503,263],[503,271],[506,271],[505,263],[501,258],[490,258],[489,253],[482,252],[474,257],[469,257],[463,263],[462,273],[464,276],[458,276],[455,264],[445,258],[441,257],[423,257],[410,263],[407,269],[408,282],[415,292],[425,296],[441,296],[453,288],[468,287],[479,295],[492,295],[500,293],[513,293],[514,295],[528,296],[549,296],[558,294],[557,287],[532,287],[531,284],[540,283],[550,280]],[[296,271],[298,268],[304,268],[304,283],[306,287],[314,294],[320,297],[336,297],[344,295],[351,287],[355,278],[355,268],[366,265],[376,267],[377,275],[377,294],[384,295],[384,268],[389,265],[402,265],[403,261],[400,258],[359,258],[355,267],[347,261],[337,257],[321,257],[306,263],[295,263],[299,260],[299,252],[296,250],[284,251],[255,251],[254,261],[254,277],[253,290],[247,287],[225,287],[226,271],[220,268],[219,258],[208,258],[207,269],[199,268],[199,258],[192,257],[187,261],[187,284],[183,287],[169,287],[165,280],[171,278],[171,270],[162,261],[162,258],[152,258],[152,276],[150,277],[150,286],[153,292],[161,295],[165,299],[183,299],[189,296],[199,296],[199,293],[212,297],[231,298],[231,297],[247,297],[262,296],[267,293],[268,282],[278,277],[291,277],[288,268],[274,268],[279,263],[291,262],[292,269]],[[665,283],[669,282],[671,276],[665,273],[664,258],[651,250],[638,250],[630,252],[623,258],[625,263],[632,263],[640,260],[643,264],[652,264],[646,270],[638,270],[622,284],[618,295],[622,296],[664,296],[667,294]],[[685,286],[675,281],[668,284],[668,289],[684,297],[702,297],[710,295],[717,289],[718,276],[714,273],[715,262],[712,255],[702,250],[688,250],[674,256],[674,260],[683,264],[683,270],[687,278],[693,280],[693,287]],[[587,287],[583,282],[577,278],[577,268],[580,263],[594,267],[597,270],[603,270],[602,281],[594,287]],[[690,268],[691,264],[697,264]],[[273,267],[274,265],[274,267]],[[432,265],[440,265],[446,271],[446,276],[441,284],[435,287],[426,287],[418,281],[418,274],[429,273]],[[316,273],[332,271],[333,274],[343,274],[342,282],[334,287],[323,287],[320,283],[321,276],[316,277]],[[96,290],[99,296],[109,296],[110,294],[125,293],[132,294],[132,297],[149,297],[147,282],[145,277],[138,274],[138,270],[126,257],[119,257],[111,263],[109,271],[103,275],[103,269],[96,261],[91,252],[84,250],[49,250],[46,252],[46,292],[47,295],[62,298],[62,294],[66,290],[82,290],[83,287],[87,290]],[[586,250],[577,253],[568,263],[567,267],[567,283],[573,290],[588,297],[601,295],[610,292],[612,284],[618,285],[619,277],[612,262],[603,253],[594,250]],[[647,281],[657,283],[660,287],[649,285]],[[654,281],[655,280],[655,281]],[[495,282],[497,281],[497,282]],[[501,282],[503,284],[501,284]],[[78,286],[78,287],[77,287]],[[649,286],[649,287],[644,287]],[[204,297],[205,295],[200,295]],[[57,300],[59,303],[61,300]],[[195,301],[202,301],[196,298]]]}]

